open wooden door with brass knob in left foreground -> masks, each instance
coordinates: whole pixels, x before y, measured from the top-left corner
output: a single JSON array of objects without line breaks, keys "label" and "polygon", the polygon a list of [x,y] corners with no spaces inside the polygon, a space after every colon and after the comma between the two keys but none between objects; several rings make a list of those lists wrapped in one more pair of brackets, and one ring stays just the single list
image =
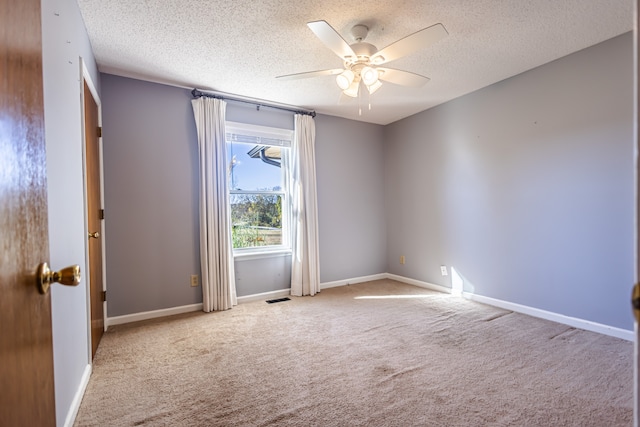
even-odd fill
[{"label": "open wooden door with brass knob in left foreground", "polygon": [[0,424],[54,426],[40,0],[0,0]]}]

